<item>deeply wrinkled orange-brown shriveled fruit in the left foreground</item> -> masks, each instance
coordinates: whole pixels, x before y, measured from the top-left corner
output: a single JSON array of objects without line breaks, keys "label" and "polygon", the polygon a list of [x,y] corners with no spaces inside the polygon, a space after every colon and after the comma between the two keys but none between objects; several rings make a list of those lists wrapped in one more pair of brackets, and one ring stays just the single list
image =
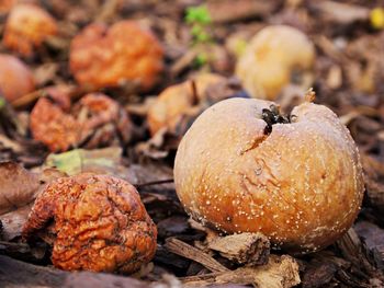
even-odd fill
[{"label": "deeply wrinkled orange-brown shriveled fruit in the left foreground", "polygon": [[54,233],[52,262],[65,270],[133,273],[157,245],[156,226],[135,187],[89,173],[61,177],[38,195],[23,238],[37,232]]}]

